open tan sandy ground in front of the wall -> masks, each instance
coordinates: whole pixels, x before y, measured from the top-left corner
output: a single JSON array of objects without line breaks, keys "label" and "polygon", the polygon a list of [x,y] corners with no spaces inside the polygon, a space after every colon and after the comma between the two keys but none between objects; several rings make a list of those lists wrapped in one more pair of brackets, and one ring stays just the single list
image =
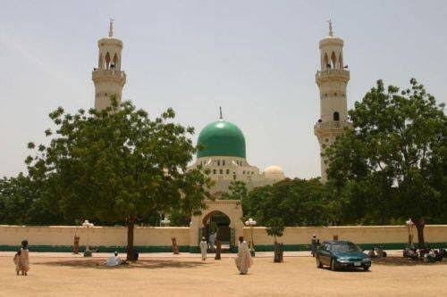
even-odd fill
[{"label": "open tan sandy ground in front of the wall", "polygon": [[30,253],[29,276],[16,276],[12,255],[0,254],[0,296],[447,296],[447,260],[418,264],[388,258],[371,271],[316,268],[311,257],[257,257],[249,275],[234,260],[142,257],[105,268],[105,258]]}]

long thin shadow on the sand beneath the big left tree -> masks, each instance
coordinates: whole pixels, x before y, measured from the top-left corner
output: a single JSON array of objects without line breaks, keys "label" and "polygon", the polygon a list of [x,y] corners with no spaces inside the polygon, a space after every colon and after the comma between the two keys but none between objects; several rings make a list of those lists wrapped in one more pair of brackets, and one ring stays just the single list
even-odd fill
[{"label": "long thin shadow on the sand beneath the big left tree", "polygon": [[207,265],[207,262],[201,261],[181,261],[181,260],[138,260],[129,264],[122,264],[116,267],[106,267],[105,260],[57,260],[36,262],[35,265],[46,265],[55,267],[72,268],[98,268],[98,269],[128,269],[128,268],[195,268],[201,265]]}]

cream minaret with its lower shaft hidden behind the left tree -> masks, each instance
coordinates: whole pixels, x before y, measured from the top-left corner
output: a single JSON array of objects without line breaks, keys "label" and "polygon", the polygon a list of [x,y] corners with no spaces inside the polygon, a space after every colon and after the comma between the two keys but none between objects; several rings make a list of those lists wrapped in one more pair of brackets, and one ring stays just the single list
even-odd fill
[{"label": "cream minaret with its lower shaft hidden behind the left tree", "polygon": [[113,19],[110,19],[109,37],[99,39],[97,47],[97,68],[91,76],[95,83],[95,108],[103,110],[110,104],[112,95],[121,103],[122,87],[126,83],[126,74],[121,70],[122,41],[114,37]]}]

